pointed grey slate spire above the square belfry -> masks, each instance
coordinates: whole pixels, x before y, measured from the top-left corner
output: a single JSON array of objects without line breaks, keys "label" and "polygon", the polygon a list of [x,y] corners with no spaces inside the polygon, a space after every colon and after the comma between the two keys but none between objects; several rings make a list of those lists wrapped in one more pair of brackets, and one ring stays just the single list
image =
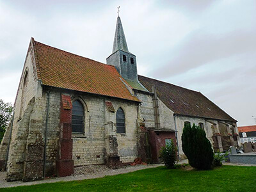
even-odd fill
[{"label": "pointed grey slate spire above the square belfry", "polygon": [[112,53],[116,52],[117,50],[129,52],[128,46],[127,46],[127,43],[125,40],[125,36],[124,36],[124,29],[123,29],[122,22],[121,22],[121,19],[119,16],[117,17],[117,21],[116,21],[116,33],[115,33]]}]

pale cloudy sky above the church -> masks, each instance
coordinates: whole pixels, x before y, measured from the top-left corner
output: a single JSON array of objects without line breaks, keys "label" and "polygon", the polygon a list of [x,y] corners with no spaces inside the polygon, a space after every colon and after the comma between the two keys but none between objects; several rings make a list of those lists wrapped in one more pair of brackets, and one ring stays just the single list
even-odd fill
[{"label": "pale cloudy sky above the church", "polygon": [[237,125],[255,125],[255,0],[0,0],[0,99],[14,103],[32,36],[106,63],[117,6],[138,74],[201,92]]}]

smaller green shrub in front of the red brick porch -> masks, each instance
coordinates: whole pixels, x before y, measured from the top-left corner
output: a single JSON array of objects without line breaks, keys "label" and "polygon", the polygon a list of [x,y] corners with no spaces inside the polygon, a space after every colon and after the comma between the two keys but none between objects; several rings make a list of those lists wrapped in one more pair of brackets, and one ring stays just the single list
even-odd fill
[{"label": "smaller green shrub in front of the red brick porch", "polygon": [[167,143],[166,147],[161,148],[160,157],[164,161],[164,166],[167,168],[175,168],[176,148],[173,144],[173,140]]}]

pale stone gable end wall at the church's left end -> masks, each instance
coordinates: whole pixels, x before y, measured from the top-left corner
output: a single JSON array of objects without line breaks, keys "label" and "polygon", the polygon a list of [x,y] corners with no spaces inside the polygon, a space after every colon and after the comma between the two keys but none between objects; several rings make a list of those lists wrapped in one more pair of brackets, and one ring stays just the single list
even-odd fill
[{"label": "pale stone gable end wall at the church's left end", "polygon": [[[28,166],[24,168],[24,165],[31,159],[29,152],[29,149],[31,149],[30,141],[43,140],[42,130],[39,133],[32,129],[35,124],[37,128],[41,128],[43,124],[40,114],[36,114],[41,103],[40,100],[38,102],[38,95],[40,98],[42,97],[42,87],[40,82],[36,80],[35,59],[33,55],[33,45],[29,44],[14,104],[15,115],[13,116],[12,140],[10,142],[7,163],[9,180],[22,179],[24,177],[23,172],[28,168]],[[41,108],[40,111],[42,111]],[[7,139],[7,136],[8,132],[6,132],[4,137]]]}]

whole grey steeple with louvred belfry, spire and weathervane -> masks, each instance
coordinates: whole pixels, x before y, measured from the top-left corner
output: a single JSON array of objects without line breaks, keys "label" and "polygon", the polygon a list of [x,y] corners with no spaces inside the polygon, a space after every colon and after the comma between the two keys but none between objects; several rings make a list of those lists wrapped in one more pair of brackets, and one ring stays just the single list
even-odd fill
[{"label": "whole grey steeple with louvred belfry, spire and weathervane", "polygon": [[124,79],[138,81],[136,56],[128,50],[124,36],[124,29],[119,17],[119,9],[113,51],[112,54],[107,58],[107,64],[115,66],[118,73]]}]

